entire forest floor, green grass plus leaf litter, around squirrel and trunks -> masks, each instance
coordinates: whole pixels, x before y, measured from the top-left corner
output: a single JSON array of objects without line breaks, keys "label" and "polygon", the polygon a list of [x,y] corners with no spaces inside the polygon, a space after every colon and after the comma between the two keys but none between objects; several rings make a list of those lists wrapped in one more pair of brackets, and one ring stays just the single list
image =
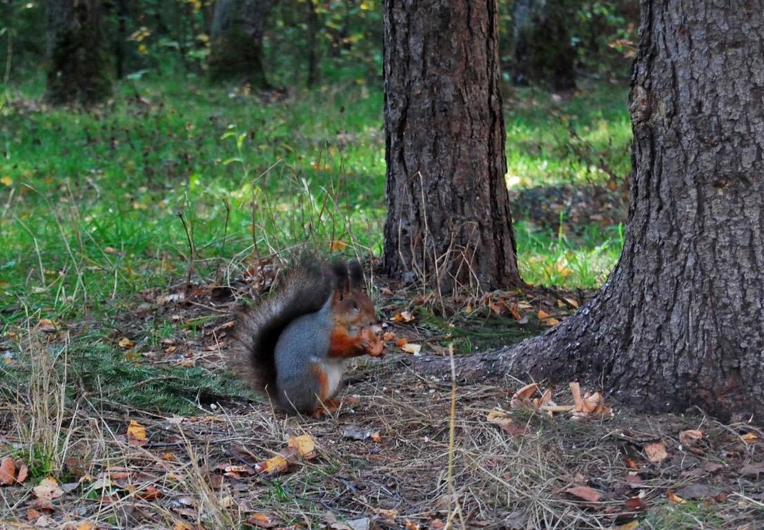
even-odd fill
[{"label": "entire forest floor, green grass plus leaf litter, around squirrel and trunks", "polygon": [[[452,388],[399,344],[499,347],[591,296],[623,241],[623,87],[507,96],[534,287],[439,299],[370,276],[389,355],[307,419],[228,371],[228,334],[281,250],[379,254],[379,89],[147,79],[85,113],[40,105],[40,86],[0,99],[0,528],[764,527],[761,431],[610,398],[612,416],[549,418],[511,406],[527,381]],[[261,470],[280,452],[288,469]]]}]

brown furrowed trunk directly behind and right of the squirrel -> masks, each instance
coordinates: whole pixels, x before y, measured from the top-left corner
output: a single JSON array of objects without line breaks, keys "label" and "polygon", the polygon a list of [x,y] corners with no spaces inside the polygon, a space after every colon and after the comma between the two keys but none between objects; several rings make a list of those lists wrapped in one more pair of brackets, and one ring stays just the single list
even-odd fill
[{"label": "brown furrowed trunk directly behind and right of the squirrel", "polygon": [[441,292],[520,283],[497,37],[493,0],[384,5],[384,267]]}]

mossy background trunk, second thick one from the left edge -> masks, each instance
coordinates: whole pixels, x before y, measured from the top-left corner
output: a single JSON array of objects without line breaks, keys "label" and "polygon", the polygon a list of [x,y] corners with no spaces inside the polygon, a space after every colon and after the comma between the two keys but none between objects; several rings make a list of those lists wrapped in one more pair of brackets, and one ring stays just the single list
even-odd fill
[{"label": "mossy background trunk, second thick one from the left edge", "polygon": [[209,76],[212,80],[248,79],[270,88],[263,63],[265,22],[273,0],[218,0],[212,18]]}]

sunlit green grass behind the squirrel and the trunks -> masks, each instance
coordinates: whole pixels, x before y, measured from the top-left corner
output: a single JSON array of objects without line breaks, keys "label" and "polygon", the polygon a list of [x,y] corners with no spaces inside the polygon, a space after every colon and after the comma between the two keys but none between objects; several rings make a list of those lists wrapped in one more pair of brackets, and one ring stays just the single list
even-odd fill
[{"label": "sunlit green grass behind the squirrel and the trunks", "polygon": [[[100,322],[70,345],[88,388],[118,381],[107,390],[125,402],[187,412],[194,398],[184,388],[225,386],[200,369],[133,386],[156,370],[126,362],[104,338],[141,291],[182,282],[191,258],[211,281],[225,280],[231,257],[245,267],[254,246],[262,254],[344,241],[380,254],[378,87],[266,101],[146,76],[121,83],[113,104],[93,113],[40,111],[42,92],[41,79],[0,90],[0,334],[28,319]],[[595,86],[567,103],[518,91],[506,121],[510,186],[604,183],[629,170],[626,89]],[[515,230],[532,283],[596,287],[623,244],[619,227],[564,234],[518,220]],[[172,334],[172,323],[156,322],[150,341]]]}]

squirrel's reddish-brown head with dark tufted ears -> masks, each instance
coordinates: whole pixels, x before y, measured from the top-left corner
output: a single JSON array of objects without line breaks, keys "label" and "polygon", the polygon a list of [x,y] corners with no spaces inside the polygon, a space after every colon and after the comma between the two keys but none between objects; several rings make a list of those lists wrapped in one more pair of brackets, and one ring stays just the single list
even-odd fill
[{"label": "squirrel's reddish-brown head with dark tufted ears", "polygon": [[335,318],[348,327],[365,328],[377,323],[374,304],[364,292],[364,271],[358,261],[335,261],[332,263],[336,289],[332,300]]}]

